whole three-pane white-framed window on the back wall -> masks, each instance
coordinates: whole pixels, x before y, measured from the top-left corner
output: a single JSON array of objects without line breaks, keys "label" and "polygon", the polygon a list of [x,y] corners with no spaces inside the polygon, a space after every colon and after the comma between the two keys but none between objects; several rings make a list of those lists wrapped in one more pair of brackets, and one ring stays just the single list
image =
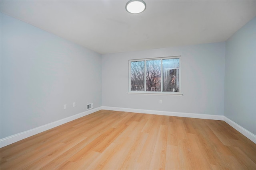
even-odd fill
[{"label": "whole three-pane white-framed window on the back wall", "polygon": [[180,57],[129,61],[129,93],[180,94]]}]

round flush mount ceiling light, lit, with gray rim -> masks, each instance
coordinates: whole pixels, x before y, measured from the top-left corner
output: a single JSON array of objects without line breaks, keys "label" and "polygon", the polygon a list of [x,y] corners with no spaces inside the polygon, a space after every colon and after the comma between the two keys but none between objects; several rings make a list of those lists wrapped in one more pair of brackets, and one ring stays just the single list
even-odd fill
[{"label": "round flush mount ceiling light, lit, with gray rim", "polygon": [[146,3],[143,0],[129,0],[125,9],[132,14],[139,14],[146,10]]}]

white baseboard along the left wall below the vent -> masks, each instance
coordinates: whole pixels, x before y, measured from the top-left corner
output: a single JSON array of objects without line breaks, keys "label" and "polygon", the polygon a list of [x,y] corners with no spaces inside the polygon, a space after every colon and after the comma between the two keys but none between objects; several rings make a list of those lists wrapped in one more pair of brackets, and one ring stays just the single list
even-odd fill
[{"label": "white baseboard along the left wall below the vent", "polygon": [[42,126],[30,129],[28,131],[24,131],[24,132],[17,133],[15,135],[12,135],[12,136],[9,136],[9,137],[5,137],[3,139],[0,139],[0,147],[5,147],[7,145],[10,145],[10,144],[15,143],[17,141],[20,141],[20,140],[25,139],[27,137],[31,137],[31,136],[36,135],[38,133],[41,133],[43,131],[47,131],[49,129],[52,129],[52,128],[57,127],[59,125],[62,125],[64,123],[68,123],[68,122],[70,122],[72,120],[75,120],[75,119],[78,119],[80,117],[89,115],[89,114],[94,113],[96,111],[99,111],[101,109],[102,109],[101,107],[90,109],[88,111],[84,111],[82,113],[78,113],[76,115],[72,115],[70,117],[66,117],[64,119],[54,121],[52,123],[48,123],[46,125],[42,125]]}]

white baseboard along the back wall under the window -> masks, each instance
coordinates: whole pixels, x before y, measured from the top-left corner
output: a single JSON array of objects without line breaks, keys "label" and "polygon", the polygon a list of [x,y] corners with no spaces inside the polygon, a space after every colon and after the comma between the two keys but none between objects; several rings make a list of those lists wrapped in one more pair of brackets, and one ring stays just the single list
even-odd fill
[{"label": "white baseboard along the back wall under the window", "polygon": [[108,107],[108,106],[102,106],[102,109],[104,109],[104,110],[114,110],[114,111],[126,111],[126,112],[133,112],[133,113],[147,113],[147,114],[154,114],[154,115],[190,117],[190,118],[198,118],[198,119],[224,120],[224,116],[222,116],[222,115],[182,113],[182,112],[156,111],[156,110],[144,110],[144,109],[130,109],[130,108]]}]

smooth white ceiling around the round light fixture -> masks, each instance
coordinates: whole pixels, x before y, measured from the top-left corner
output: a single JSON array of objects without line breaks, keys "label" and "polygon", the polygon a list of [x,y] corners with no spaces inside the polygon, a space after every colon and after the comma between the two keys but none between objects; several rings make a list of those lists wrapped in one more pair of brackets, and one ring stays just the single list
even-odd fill
[{"label": "smooth white ceiling around the round light fixture", "polygon": [[101,54],[226,41],[256,16],[256,1],[1,0],[1,12]]}]

